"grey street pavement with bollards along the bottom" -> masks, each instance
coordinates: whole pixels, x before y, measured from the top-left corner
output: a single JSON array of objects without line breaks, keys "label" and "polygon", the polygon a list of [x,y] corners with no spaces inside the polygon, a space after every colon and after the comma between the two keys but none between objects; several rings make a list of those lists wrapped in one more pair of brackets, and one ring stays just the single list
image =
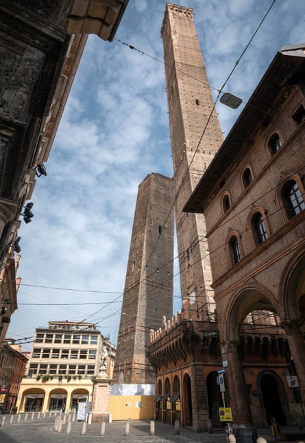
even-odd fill
[{"label": "grey street pavement with bollards along the bottom", "polygon": [[[226,443],[226,434],[223,430],[212,433],[195,433],[192,429],[180,428],[180,433],[176,434],[174,426],[162,422],[154,422],[154,435],[150,435],[150,420],[128,422],[129,435],[125,435],[127,422],[106,423],[105,433],[100,435],[100,423],[71,422],[71,433],[67,434],[67,429],[69,432],[68,422],[63,424],[62,429],[58,432],[55,429],[55,417],[34,418],[34,420],[29,418],[27,421],[23,421],[22,416],[19,419],[15,416],[13,422],[10,422],[10,416],[5,416],[5,422],[2,417],[0,416],[0,424],[2,424],[0,443]],[[17,422],[17,420],[20,421]],[[86,427],[85,434],[84,427]],[[258,436],[265,438],[267,443],[276,442],[269,429],[258,430]]]}]

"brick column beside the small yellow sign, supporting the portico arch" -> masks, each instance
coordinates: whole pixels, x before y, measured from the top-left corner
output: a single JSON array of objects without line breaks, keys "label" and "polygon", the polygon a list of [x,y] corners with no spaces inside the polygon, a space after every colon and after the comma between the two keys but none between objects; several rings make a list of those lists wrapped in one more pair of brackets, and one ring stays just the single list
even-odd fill
[{"label": "brick column beside the small yellow sign, supporting the portico arch", "polygon": [[237,341],[221,343],[222,361],[228,361],[225,367],[225,407],[232,409],[233,421],[237,424],[252,426],[247,385],[241,365],[241,356]]}]

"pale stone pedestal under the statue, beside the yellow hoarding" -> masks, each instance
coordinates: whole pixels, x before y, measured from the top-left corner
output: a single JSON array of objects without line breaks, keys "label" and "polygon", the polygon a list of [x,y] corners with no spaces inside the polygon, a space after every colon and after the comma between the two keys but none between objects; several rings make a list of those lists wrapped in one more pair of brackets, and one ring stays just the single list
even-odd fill
[{"label": "pale stone pedestal under the statue, beside the yellow hoarding", "polygon": [[109,421],[110,383],[104,370],[93,380],[92,418],[95,423]]}]

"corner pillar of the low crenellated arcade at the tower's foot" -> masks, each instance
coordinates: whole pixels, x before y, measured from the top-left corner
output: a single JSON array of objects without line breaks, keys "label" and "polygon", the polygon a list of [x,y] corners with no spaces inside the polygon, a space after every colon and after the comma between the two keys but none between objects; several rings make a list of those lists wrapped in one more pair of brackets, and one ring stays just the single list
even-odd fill
[{"label": "corner pillar of the low crenellated arcade at the tower's foot", "polygon": [[191,367],[191,392],[193,431],[208,431],[208,402],[202,363],[194,363]]}]

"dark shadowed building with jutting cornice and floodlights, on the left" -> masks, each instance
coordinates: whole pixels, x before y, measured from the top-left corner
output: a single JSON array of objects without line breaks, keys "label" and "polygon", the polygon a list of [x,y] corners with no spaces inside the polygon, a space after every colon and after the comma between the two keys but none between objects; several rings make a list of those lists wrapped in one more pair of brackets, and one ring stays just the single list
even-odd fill
[{"label": "dark shadowed building with jutting cornice and floodlights, on the left", "polygon": [[[20,249],[17,231],[21,220],[28,223],[31,218],[29,199],[36,179],[47,173],[44,162],[88,34],[112,41],[127,3],[54,0],[40,1],[38,8],[29,0],[0,0],[0,271],[6,269],[12,279],[5,288],[1,280],[0,291],[7,292],[9,284],[12,299],[14,252]],[[14,309],[16,300],[3,317]]]}]

